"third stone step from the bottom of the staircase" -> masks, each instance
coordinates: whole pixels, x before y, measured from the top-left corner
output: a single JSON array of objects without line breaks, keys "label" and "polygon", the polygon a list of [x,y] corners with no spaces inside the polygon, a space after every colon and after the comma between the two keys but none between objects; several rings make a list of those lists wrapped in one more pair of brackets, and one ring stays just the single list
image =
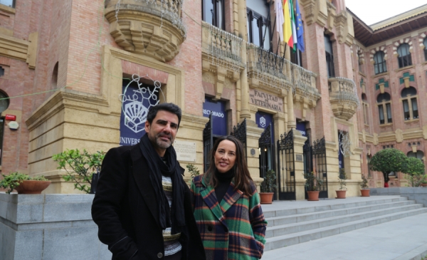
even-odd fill
[{"label": "third stone step from the bottom of the staircase", "polygon": [[346,209],[334,209],[334,210],[328,210],[325,212],[312,212],[312,213],[306,213],[306,214],[288,215],[283,217],[270,217],[270,218],[266,218],[266,220],[268,222],[268,227],[275,227],[275,226],[280,226],[284,224],[307,222],[315,219],[325,219],[330,217],[344,216],[347,214],[369,212],[369,211],[379,210],[379,209],[388,209],[391,207],[404,207],[410,204],[415,204],[415,202],[411,200],[404,200],[401,202],[374,204],[374,205],[352,207],[352,208],[346,208]]}]

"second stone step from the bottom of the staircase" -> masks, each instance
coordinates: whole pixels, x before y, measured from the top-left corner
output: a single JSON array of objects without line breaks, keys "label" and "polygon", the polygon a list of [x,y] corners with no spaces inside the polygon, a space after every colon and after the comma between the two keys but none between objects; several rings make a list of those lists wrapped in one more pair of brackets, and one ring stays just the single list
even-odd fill
[{"label": "second stone step from the bottom of the staircase", "polygon": [[354,222],[354,221],[359,221],[363,219],[369,219],[372,217],[380,217],[380,216],[394,214],[398,212],[408,212],[413,209],[420,209],[422,207],[423,207],[422,204],[409,204],[403,207],[400,206],[400,207],[391,207],[389,209],[377,209],[377,210],[372,210],[370,212],[359,212],[355,214],[347,214],[347,215],[338,216],[338,217],[329,217],[329,218],[315,219],[311,221],[299,222],[294,224],[285,224],[285,225],[267,228],[267,231],[265,232],[265,237],[270,238],[273,236],[282,236],[285,234],[305,232],[308,230],[318,229],[322,227],[330,227],[337,224],[344,224],[347,222]]}]

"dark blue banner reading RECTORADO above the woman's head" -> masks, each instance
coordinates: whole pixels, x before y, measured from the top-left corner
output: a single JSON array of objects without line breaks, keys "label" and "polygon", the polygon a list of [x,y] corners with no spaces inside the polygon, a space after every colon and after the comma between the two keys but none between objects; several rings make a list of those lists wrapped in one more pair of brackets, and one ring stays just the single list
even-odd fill
[{"label": "dark blue banner reading RECTORADO above the woman's head", "polygon": [[212,101],[205,98],[203,103],[203,116],[209,118],[212,113],[212,134],[217,136],[227,135],[226,104],[221,101]]}]

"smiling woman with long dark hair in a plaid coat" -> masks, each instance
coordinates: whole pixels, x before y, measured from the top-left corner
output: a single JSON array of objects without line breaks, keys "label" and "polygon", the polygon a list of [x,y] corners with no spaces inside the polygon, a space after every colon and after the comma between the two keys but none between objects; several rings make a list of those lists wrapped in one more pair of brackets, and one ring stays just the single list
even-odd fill
[{"label": "smiling woman with long dark hair in a plaid coat", "polygon": [[207,260],[263,256],[267,222],[243,155],[236,137],[219,138],[209,169],[191,183],[194,217]]}]

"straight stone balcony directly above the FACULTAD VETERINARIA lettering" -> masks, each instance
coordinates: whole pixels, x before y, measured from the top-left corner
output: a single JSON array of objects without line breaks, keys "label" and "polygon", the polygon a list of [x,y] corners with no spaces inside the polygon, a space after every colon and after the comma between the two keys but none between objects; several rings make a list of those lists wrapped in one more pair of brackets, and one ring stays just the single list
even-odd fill
[{"label": "straight stone balcony directly above the FACULTAD VETERINARIA lettering", "polygon": [[258,88],[292,88],[290,61],[248,43],[249,85]]}]

